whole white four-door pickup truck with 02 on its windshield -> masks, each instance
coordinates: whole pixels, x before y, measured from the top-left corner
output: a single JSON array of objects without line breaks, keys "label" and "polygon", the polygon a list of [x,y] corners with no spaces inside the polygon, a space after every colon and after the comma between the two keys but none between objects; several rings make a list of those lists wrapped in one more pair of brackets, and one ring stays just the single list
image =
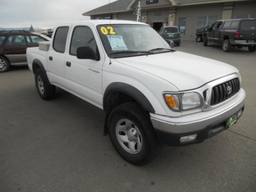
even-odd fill
[{"label": "whole white four-door pickup truck with 02 on its windshield", "polygon": [[175,51],[145,23],[63,23],[27,59],[42,99],[58,86],[103,109],[104,134],[135,165],[162,143],[198,143],[228,129],[244,110],[235,67]]}]

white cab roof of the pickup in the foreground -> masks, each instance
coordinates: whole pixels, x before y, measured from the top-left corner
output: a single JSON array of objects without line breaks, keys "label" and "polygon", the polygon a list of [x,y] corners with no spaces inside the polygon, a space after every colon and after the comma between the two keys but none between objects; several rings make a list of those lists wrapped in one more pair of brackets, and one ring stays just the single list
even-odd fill
[{"label": "white cab roof of the pickup in the foreground", "polygon": [[98,25],[113,25],[113,24],[134,24],[134,25],[148,25],[143,22],[137,22],[137,21],[128,21],[128,20],[115,20],[115,19],[97,19],[97,20],[83,20],[83,21],[72,21],[72,22],[65,22],[61,23],[60,25],[63,24],[87,24],[91,23],[94,26]]}]

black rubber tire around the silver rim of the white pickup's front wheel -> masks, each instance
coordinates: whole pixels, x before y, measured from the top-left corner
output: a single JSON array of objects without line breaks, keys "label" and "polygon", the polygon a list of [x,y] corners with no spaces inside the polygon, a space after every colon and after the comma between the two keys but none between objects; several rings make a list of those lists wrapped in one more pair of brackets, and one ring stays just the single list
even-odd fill
[{"label": "black rubber tire around the silver rim of the white pickup's front wheel", "polygon": [[[120,132],[117,131],[116,133],[116,126],[118,125],[118,122],[122,122],[122,119],[126,119],[134,123],[129,128],[126,127],[127,130],[132,129],[132,127],[136,127],[139,130],[139,132],[137,131],[136,133],[139,133],[141,136],[142,147],[137,154],[127,152],[117,139],[117,134],[120,134]],[[126,133],[129,132],[127,130]],[[134,165],[140,166],[149,163],[155,158],[162,147],[161,143],[157,141],[153,125],[149,119],[149,114],[135,102],[123,103],[111,111],[108,118],[108,132],[110,140],[117,153],[127,162]],[[130,146],[128,147],[129,143],[126,144],[127,149],[130,148]],[[138,147],[138,141],[136,145]]]}]

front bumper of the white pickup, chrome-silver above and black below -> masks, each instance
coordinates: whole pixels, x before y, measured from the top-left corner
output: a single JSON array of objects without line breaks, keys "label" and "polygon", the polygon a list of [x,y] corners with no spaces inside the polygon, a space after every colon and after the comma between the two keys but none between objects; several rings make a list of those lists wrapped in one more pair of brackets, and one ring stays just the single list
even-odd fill
[{"label": "front bumper of the white pickup, chrome-silver above and black below", "polygon": [[[155,127],[158,139],[165,145],[180,146],[202,142],[226,129],[229,117],[244,110],[245,92],[243,89],[225,106],[209,111],[181,117],[166,117],[150,114],[150,119]],[[239,116],[240,117],[240,116]],[[238,117],[238,118],[239,118]],[[189,121],[187,121],[189,119]],[[181,143],[180,138],[197,134],[196,139],[188,143]]]}]

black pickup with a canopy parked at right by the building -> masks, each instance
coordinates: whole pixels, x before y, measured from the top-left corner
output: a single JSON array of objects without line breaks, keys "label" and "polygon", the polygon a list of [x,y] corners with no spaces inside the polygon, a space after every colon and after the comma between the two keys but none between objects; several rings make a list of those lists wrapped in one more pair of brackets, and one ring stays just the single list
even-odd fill
[{"label": "black pickup with a canopy parked at right by the building", "polygon": [[239,49],[248,47],[256,50],[256,19],[218,20],[207,26],[204,32],[204,46],[208,42],[222,44],[222,51],[229,52],[231,46]]}]

